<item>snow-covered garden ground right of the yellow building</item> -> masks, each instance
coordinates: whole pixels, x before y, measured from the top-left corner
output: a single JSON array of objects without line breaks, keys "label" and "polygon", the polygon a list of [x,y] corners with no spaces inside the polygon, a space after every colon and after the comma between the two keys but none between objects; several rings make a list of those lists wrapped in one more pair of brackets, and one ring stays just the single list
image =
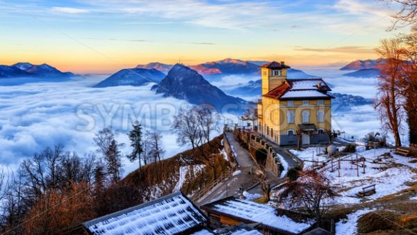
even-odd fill
[{"label": "snow-covered garden ground right of the yellow building", "polygon": [[[400,156],[391,152],[393,158],[383,159],[378,163],[373,162],[378,156],[390,152],[390,149],[370,149],[359,153],[359,159],[361,156],[366,159],[365,173],[363,173],[363,168],[357,168],[350,161],[342,161],[340,177],[338,176],[339,171],[336,169],[338,162],[334,161],[334,171],[332,172],[329,158],[316,156],[318,152],[317,148],[312,147],[302,151],[292,150],[291,152],[304,161],[305,168],[311,168],[313,166],[312,160],[327,162],[326,167],[323,168],[325,169],[323,172],[331,179],[331,184],[338,193],[338,196],[330,202],[334,204],[356,204],[363,201],[372,201],[409,188],[406,184],[407,182],[417,181],[417,163],[410,163],[412,159],[409,157]],[[355,160],[356,156],[347,158],[347,160],[350,159]],[[357,176],[358,172],[359,177]],[[375,194],[366,197],[357,196],[363,187],[372,184],[375,184]]]}]

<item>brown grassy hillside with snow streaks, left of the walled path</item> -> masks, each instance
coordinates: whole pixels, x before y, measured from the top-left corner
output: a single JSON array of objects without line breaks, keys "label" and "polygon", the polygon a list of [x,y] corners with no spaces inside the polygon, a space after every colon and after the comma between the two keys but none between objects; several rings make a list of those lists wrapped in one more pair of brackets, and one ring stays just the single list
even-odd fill
[{"label": "brown grassy hillside with snow streaks, left of the walled path", "polygon": [[122,184],[140,186],[144,192],[144,201],[154,200],[175,191],[193,195],[215,177],[229,170],[229,160],[222,151],[222,138],[221,135],[213,138],[209,144],[204,144],[205,155],[210,156],[210,163],[214,162],[214,167],[208,165],[199,150],[190,149],[131,172],[124,177]]}]

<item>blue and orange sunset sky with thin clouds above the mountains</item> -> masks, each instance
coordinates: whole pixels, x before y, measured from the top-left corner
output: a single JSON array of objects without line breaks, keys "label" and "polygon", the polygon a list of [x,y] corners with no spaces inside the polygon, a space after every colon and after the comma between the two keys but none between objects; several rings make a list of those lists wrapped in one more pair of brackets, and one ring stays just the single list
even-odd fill
[{"label": "blue and orange sunset sky with thin clouds above the mountains", "polygon": [[395,6],[377,0],[0,0],[0,64],[109,74],[223,58],[338,67],[377,58]]}]

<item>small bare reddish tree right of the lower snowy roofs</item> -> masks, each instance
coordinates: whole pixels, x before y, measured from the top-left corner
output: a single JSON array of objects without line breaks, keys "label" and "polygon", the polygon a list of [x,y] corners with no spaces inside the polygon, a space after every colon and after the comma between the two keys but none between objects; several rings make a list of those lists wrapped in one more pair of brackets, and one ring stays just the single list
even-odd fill
[{"label": "small bare reddish tree right of the lower snowy roofs", "polygon": [[300,177],[295,181],[286,184],[286,188],[281,193],[279,200],[295,208],[304,209],[309,215],[316,218],[318,224],[327,213],[325,200],[334,196],[330,188],[330,181],[316,172],[316,170],[306,170],[301,172]]}]

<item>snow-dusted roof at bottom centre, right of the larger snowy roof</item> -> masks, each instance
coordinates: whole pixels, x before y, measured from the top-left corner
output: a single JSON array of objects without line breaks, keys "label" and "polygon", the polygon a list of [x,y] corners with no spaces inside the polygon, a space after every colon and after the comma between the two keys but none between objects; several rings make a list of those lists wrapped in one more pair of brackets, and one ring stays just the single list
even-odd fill
[{"label": "snow-dusted roof at bottom centre, right of the larger snowy roof", "polygon": [[257,222],[275,229],[293,234],[300,234],[314,225],[314,220],[306,222],[296,222],[285,215],[278,215],[277,211],[265,204],[259,204],[247,200],[240,200],[234,197],[212,202],[201,207],[208,211],[217,211],[233,218]]}]

